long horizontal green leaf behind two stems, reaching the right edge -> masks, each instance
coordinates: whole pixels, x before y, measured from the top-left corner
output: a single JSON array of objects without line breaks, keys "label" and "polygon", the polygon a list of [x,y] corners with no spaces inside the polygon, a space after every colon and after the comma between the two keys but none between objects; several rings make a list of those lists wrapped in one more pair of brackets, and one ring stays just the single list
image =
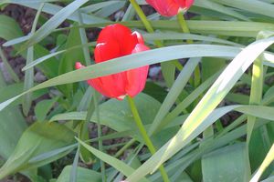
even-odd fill
[{"label": "long horizontal green leaf behind two stems, reaching the right edge", "polygon": [[[164,31],[173,30],[176,32],[181,31],[181,26],[176,20],[156,20],[151,21],[151,23],[154,29],[161,29]],[[89,24],[84,25],[84,27],[100,27],[110,24],[112,23]],[[120,24],[134,28],[143,28],[141,21],[120,22]],[[204,35],[229,35],[254,38],[257,37],[258,33],[262,30],[274,31],[273,24],[261,22],[188,20],[186,21],[186,24],[189,26],[192,34]],[[66,29],[70,28],[61,28],[59,30]]]}]

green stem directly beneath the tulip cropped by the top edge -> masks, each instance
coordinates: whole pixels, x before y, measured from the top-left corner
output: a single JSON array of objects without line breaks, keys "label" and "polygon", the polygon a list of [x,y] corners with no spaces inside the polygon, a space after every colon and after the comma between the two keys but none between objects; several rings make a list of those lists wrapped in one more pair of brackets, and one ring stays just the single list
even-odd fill
[{"label": "green stem directly beneath the tulip cropped by the top edge", "polygon": [[[188,25],[186,24],[185,20],[184,20],[184,14],[182,13],[182,11],[180,11],[178,14],[177,14],[177,20],[183,30],[183,33],[186,33],[186,34],[190,34],[190,30],[188,28]],[[187,44],[194,44],[193,40],[191,39],[187,39],[186,40],[186,43]],[[200,76],[201,73],[200,73],[200,68],[199,66],[196,66],[195,68],[195,74],[194,74],[194,81],[191,80],[191,82],[193,82],[193,86],[197,87],[200,85]]]}]

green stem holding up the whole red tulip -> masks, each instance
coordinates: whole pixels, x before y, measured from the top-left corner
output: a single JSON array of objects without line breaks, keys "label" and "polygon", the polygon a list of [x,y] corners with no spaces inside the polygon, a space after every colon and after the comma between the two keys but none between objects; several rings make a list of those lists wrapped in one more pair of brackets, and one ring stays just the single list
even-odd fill
[{"label": "green stem holding up the whole red tulip", "polygon": [[[132,115],[133,115],[133,117],[134,117],[135,123],[136,123],[136,125],[137,125],[138,128],[139,128],[139,131],[140,131],[140,133],[141,133],[141,135],[142,135],[142,139],[144,140],[145,145],[148,147],[148,149],[150,150],[150,152],[151,152],[152,154],[155,154],[155,153],[156,153],[156,149],[155,149],[155,147],[153,146],[152,140],[151,140],[150,137],[147,135],[147,132],[146,132],[144,126],[142,125],[142,119],[141,119],[141,117],[140,117],[140,115],[139,115],[139,112],[138,112],[138,110],[137,110],[137,107],[135,106],[135,103],[134,103],[133,98],[132,98],[131,96],[128,96],[128,101],[129,101],[129,105],[130,105],[130,107],[131,107],[131,109],[132,109]],[[163,165],[161,165],[161,166],[159,167],[159,170],[160,170],[160,172],[161,172],[161,174],[162,174],[163,181],[164,181],[164,182],[169,182],[169,178],[168,178],[167,173],[165,172],[165,170],[164,170],[164,168],[163,168]]]}]

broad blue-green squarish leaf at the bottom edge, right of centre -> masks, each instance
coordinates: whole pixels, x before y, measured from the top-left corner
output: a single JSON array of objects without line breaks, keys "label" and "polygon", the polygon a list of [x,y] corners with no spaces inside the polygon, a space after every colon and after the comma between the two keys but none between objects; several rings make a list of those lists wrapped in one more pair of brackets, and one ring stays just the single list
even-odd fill
[{"label": "broad blue-green squarish leaf at the bottom edge, right of centre", "polygon": [[222,147],[202,158],[203,181],[248,181],[250,168],[245,143]]}]

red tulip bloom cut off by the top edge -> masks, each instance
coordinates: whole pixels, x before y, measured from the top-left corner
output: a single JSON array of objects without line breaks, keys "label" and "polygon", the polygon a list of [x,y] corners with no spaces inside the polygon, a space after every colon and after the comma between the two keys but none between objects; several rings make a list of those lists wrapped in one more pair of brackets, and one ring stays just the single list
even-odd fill
[{"label": "red tulip bloom cut off by the top edge", "polygon": [[156,11],[164,16],[177,15],[181,9],[188,9],[195,0],[146,0]]}]

